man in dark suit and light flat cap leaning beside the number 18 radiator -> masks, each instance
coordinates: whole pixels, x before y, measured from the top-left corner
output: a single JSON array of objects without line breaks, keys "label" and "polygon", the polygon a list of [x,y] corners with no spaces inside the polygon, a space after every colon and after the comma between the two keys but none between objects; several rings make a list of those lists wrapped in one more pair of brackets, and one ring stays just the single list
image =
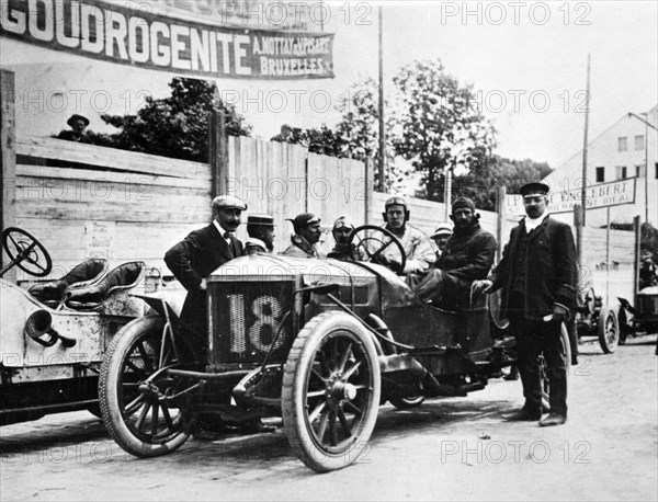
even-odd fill
[{"label": "man in dark suit and light flat cap leaning beside the number 18 radiator", "polygon": [[247,204],[231,195],[213,201],[213,223],[194,230],[167,251],[164,263],[188,289],[181,320],[205,335],[206,278],[219,265],[242,255],[242,243],[234,236]]}]

